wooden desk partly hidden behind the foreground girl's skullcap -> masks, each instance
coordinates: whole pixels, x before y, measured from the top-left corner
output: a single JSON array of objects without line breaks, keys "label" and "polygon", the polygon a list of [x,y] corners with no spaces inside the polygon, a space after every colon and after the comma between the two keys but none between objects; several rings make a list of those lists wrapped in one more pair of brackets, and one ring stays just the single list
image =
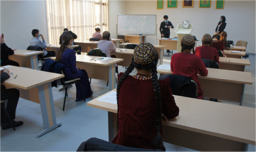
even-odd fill
[{"label": "wooden desk partly hidden behind the foreground girl's skullcap", "polygon": [[[156,50],[157,50],[157,53],[159,54],[160,64],[163,63],[164,46],[165,45],[156,45]],[[133,54],[134,54],[134,49],[116,48],[116,52],[111,52],[111,55],[115,55],[117,58],[124,59],[124,61],[118,63],[118,65],[121,65],[121,66],[129,66],[131,64]]]}]

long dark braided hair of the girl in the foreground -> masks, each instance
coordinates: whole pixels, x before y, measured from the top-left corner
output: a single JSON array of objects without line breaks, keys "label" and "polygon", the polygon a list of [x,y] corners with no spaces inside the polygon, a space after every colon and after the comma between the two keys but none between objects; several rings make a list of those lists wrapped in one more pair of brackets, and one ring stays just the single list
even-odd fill
[{"label": "long dark braided hair of the girl in the foreground", "polygon": [[154,146],[157,149],[163,148],[163,139],[161,137],[161,125],[162,125],[162,101],[161,101],[161,91],[160,91],[160,85],[157,78],[157,61],[158,61],[158,54],[156,53],[156,57],[152,63],[149,63],[147,65],[139,65],[138,63],[134,62],[134,59],[132,58],[132,62],[127,68],[127,70],[124,72],[124,74],[120,77],[118,80],[118,84],[116,87],[116,101],[117,101],[117,126],[118,126],[118,117],[119,117],[119,91],[120,87],[122,86],[122,83],[124,80],[128,77],[129,73],[134,70],[134,68],[138,68],[140,70],[151,70],[152,75],[152,84],[154,87],[154,93],[156,96],[156,130],[157,134],[154,140],[152,141],[152,146]]}]

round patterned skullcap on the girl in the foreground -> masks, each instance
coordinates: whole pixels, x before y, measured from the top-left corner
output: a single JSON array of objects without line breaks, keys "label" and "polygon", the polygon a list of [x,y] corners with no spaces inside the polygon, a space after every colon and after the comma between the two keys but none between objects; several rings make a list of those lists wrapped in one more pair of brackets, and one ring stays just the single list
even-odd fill
[{"label": "round patterned skullcap on the girl in the foreground", "polygon": [[139,65],[147,65],[152,63],[156,58],[156,48],[151,43],[143,42],[134,49],[134,62]]}]

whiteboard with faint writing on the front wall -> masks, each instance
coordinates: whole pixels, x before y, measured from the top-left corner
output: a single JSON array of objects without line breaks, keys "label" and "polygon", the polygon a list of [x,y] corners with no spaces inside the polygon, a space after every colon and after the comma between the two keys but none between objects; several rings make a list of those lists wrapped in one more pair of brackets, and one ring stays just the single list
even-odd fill
[{"label": "whiteboard with faint writing on the front wall", "polygon": [[117,15],[117,34],[156,34],[156,15]]}]

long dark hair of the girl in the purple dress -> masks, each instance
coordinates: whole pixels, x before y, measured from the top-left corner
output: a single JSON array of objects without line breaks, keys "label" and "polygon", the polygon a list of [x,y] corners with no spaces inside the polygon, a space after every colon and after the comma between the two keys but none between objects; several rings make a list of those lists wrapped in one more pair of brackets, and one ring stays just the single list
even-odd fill
[{"label": "long dark hair of the girl in the purple dress", "polygon": [[57,51],[56,54],[56,61],[61,62],[61,56],[63,54],[63,52],[65,51],[65,49],[67,48],[67,45],[69,45],[70,40],[72,40],[72,35],[68,34],[68,33],[64,33],[63,36],[61,37],[61,45],[60,45],[60,49]]}]

